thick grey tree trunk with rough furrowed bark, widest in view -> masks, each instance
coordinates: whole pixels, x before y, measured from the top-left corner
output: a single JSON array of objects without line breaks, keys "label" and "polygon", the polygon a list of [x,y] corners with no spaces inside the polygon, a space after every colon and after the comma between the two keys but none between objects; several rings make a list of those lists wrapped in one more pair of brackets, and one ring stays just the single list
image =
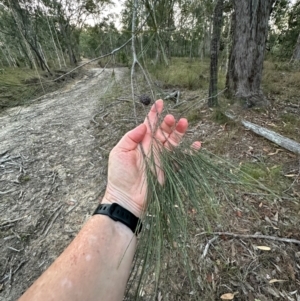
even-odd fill
[{"label": "thick grey tree trunk with rough furrowed bark, widest in view", "polygon": [[268,21],[274,0],[234,0],[233,44],[226,87],[247,107],[267,105],[261,90]]}]

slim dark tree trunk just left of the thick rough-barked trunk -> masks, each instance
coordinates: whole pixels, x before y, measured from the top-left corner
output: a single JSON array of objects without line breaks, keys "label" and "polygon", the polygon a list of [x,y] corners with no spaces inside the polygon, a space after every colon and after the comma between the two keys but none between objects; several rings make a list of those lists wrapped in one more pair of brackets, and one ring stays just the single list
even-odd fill
[{"label": "slim dark tree trunk just left of the thick rough-barked trunk", "polygon": [[223,4],[224,0],[218,0],[214,11],[213,34],[210,46],[209,107],[218,105],[218,54],[223,19]]}]

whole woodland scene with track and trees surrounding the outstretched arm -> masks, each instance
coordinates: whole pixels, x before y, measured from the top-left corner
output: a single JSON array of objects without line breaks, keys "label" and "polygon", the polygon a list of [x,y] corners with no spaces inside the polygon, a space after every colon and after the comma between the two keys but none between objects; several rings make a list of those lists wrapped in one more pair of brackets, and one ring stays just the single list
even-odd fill
[{"label": "whole woodland scene with track and trees surrounding the outstretched arm", "polygon": [[163,186],[146,164],[124,300],[299,301],[299,95],[300,0],[0,0],[0,300],[72,241],[163,99],[189,130]]}]

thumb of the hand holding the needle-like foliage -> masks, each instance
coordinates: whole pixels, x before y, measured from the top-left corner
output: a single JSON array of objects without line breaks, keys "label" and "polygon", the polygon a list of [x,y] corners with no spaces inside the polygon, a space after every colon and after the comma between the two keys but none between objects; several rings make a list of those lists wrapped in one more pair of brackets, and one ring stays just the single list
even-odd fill
[{"label": "thumb of the hand holding the needle-like foliage", "polygon": [[142,142],[147,133],[145,124],[140,124],[132,131],[126,133],[116,147],[122,148],[125,151],[131,151],[137,148],[138,144]]}]

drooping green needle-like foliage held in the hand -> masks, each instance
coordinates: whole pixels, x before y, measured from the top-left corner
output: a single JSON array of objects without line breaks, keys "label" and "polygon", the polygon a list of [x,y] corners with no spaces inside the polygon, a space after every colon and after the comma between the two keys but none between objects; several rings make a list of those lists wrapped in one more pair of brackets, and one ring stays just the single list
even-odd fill
[{"label": "drooping green needle-like foliage held in the hand", "polygon": [[[157,300],[162,290],[172,292],[170,300],[204,300],[203,294],[210,300],[205,279],[209,261],[201,256],[203,247],[193,246],[194,238],[203,232],[230,230],[232,212],[241,207],[254,220],[249,194],[269,201],[279,198],[239,166],[188,145],[183,142],[168,150],[153,144],[145,157],[147,208],[128,300]],[[163,184],[158,181],[159,169]]]}]

